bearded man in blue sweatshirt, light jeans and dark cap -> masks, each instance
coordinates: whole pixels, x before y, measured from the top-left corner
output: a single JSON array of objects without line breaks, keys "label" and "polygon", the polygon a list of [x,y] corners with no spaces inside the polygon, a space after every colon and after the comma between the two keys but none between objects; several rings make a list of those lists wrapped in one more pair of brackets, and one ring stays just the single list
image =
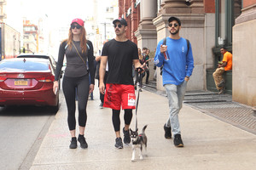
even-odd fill
[{"label": "bearded man in blue sweatshirt, light jeans and dark cap", "polygon": [[174,145],[183,147],[178,113],[182,108],[187,83],[194,69],[194,59],[191,44],[179,36],[181,21],[176,17],[170,17],[168,22],[170,36],[166,37],[166,44],[163,45],[164,39],[158,43],[154,65],[163,65],[163,86],[169,99],[170,115],[164,125],[165,138],[172,139],[173,133]]}]

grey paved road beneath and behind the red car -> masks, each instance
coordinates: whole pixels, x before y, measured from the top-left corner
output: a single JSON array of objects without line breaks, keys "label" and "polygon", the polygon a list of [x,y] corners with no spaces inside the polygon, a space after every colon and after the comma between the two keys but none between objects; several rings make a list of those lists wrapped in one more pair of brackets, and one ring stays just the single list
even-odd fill
[{"label": "grey paved road beneath and behind the red car", "polygon": [[0,169],[29,169],[54,117],[42,107],[0,107]]}]

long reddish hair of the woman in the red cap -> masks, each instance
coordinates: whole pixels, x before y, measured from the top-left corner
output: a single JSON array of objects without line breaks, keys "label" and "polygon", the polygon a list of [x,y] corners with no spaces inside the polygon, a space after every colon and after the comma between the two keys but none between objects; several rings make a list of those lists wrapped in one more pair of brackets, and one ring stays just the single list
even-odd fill
[{"label": "long reddish hair of the woman in the red cap", "polygon": [[[67,41],[67,46],[71,49],[72,48],[72,41],[73,41],[73,33],[71,26],[68,31],[68,38],[64,41]],[[82,53],[84,54],[87,50],[86,45],[87,39],[86,39],[86,31],[84,29],[84,26],[81,27],[81,33],[80,33],[80,48],[82,49]]]}]

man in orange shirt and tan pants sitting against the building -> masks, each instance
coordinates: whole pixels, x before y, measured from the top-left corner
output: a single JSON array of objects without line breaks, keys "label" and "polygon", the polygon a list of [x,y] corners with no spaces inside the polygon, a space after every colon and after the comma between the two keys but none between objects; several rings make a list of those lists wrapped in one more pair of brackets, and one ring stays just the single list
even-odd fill
[{"label": "man in orange shirt and tan pants sitting against the building", "polygon": [[227,51],[225,47],[220,48],[220,53],[223,54],[222,63],[218,64],[218,68],[213,72],[212,77],[214,79],[218,94],[224,93],[225,81],[222,75],[224,71],[232,70],[232,54]]}]

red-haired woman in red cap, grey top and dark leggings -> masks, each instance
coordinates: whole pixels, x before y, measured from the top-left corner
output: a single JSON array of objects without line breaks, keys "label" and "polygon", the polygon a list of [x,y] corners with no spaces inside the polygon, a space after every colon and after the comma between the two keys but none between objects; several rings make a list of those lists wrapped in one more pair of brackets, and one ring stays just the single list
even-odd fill
[{"label": "red-haired woman in red cap, grey top and dark leggings", "polygon": [[67,124],[72,137],[69,148],[75,149],[78,146],[75,119],[75,96],[77,89],[79,103],[78,140],[81,148],[85,149],[88,147],[84,138],[84,130],[87,121],[86,106],[88,96],[94,90],[95,69],[93,46],[89,40],[86,40],[83,20],[74,19],[71,23],[67,40],[61,42],[55,71],[54,90],[59,87],[58,80],[60,78],[64,55],[66,55],[67,67],[62,81],[62,88],[67,103]]}]

